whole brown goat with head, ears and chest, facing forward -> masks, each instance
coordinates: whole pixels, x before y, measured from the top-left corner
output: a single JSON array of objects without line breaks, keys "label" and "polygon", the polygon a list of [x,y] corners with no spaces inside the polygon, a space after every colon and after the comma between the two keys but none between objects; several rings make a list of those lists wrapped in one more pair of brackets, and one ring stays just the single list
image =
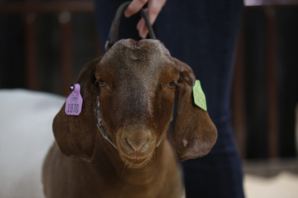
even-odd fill
[{"label": "whole brown goat with head, ears and chest, facing forward", "polygon": [[46,197],[185,197],[166,138],[175,95],[178,159],[206,155],[217,137],[207,111],[193,102],[191,68],[158,40],[119,40],[83,67],[77,83],[82,112],[66,115],[64,104],[53,122],[57,143],[44,162]]}]

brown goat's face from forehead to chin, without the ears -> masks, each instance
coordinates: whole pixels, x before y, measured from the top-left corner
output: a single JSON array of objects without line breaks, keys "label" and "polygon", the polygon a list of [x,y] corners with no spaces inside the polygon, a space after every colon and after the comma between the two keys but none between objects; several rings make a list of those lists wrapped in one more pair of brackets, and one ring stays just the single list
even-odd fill
[{"label": "brown goat's face from forehead to chin, without the ears", "polygon": [[103,126],[128,166],[147,164],[167,131],[179,71],[158,40],[120,40],[98,63]]}]

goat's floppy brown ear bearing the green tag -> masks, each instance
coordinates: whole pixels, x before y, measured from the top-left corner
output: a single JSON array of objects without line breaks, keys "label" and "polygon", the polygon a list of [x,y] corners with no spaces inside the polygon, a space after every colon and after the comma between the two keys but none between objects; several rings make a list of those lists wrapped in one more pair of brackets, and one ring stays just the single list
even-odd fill
[{"label": "goat's floppy brown ear bearing the green tag", "polygon": [[176,89],[177,115],[174,123],[174,146],[178,159],[184,161],[209,153],[217,138],[217,130],[207,111],[196,106],[193,99],[195,75],[185,63],[174,59],[180,68]]}]

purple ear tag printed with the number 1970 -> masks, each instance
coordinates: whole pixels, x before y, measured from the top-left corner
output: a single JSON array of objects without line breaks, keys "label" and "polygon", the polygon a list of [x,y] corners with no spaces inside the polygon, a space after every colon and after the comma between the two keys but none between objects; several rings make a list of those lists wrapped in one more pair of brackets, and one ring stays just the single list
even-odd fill
[{"label": "purple ear tag printed with the number 1970", "polygon": [[83,98],[80,94],[80,84],[72,84],[72,93],[66,98],[65,113],[67,115],[79,115],[82,111]]}]

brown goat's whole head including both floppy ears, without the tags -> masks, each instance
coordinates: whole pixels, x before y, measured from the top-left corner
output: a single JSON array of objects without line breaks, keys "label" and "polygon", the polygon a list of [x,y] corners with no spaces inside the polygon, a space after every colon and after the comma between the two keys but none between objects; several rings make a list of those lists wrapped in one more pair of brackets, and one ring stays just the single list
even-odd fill
[{"label": "brown goat's whole head including both floppy ears, without the tags", "polygon": [[206,155],[215,143],[215,125],[207,111],[193,102],[192,69],[171,57],[158,40],[118,41],[103,58],[87,63],[76,83],[83,98],[81,113],[66,115],[64,104],[53,121],[56,142],[68,157],[93,159],[98,102],[105,131],[132,168],[145,166],[153,157],[172,120],[175,95],[173,137],[178,159]]}]

